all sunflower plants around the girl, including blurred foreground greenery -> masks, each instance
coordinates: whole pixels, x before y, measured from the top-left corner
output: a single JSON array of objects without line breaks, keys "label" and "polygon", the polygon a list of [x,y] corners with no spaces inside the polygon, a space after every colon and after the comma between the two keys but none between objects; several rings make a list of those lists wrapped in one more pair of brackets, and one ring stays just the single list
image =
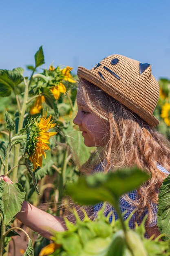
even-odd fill
[{"label": "all sunflower plants around the girl, including blurred foreground greenery", "polygon": [[[165,235],[155,240],[144,238],[144,223],[130,231],[121,214],[119,221],[110,225],[109,216],[103,215],[103,209],[94,222],[86,211],[81,221],[74,210],[76,223],[65,219],[68,230],[51,231],[52,243],[15,219],[24,200],[54,216],[64,217],[70,205],[65,194],[71,195],[80,205],[105,201],[112,194],[110,204],[119,213],[119,197],[148,179],[137,168],[124,175],[124,180],[121,175],[124,170],[111,176],[79,177],[80,167],[90,159],[95,148],[84,145],[81,132],[73,124],[77,113],[77,76],[69,66],[50,65],[48,69],[40,69],[44,63],[41,46],[35,53],[35,64],[27,66],[29,77],[23,75],[22,67],[0,70],[0,175],[13,181],[0,180],[0,256],[12,255],[11,252],[16,256],[170,255],[170,232],[165,232],[165,224],[161,222],[166,199],[159,199],[159,229],[162,234],[166,233],[163,241],[160,238]],[[159,85],[160,98],[154,115],[160,120],[157,129],[170,139],[170,80],[160,79]],[[132,177],[139,179],[134,178],[136,183],[131,184]],[[119,194],[113,189],[116,179],[124,188]],[[97,189],[98,196],[93,196]],[[170,191],[169,180],[162,186],[162,191],[165,190]],[[167,224],[168,218],[166,220]],[[26,236],[27,248],[15,248],[20,232]]]}]

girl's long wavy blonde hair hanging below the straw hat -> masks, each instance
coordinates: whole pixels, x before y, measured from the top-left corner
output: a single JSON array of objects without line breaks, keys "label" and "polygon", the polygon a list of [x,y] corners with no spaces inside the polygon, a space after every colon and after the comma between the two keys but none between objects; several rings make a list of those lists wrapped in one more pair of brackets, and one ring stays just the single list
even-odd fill
[{"label": "girl's long wavy blonde hair hanging below the straw hat", "polygon": [[[147,207],[147,225],[155,222],[156,216],[152,211],[152,205],[157,203],[158,190],[165,178],[165,174],[157,168],[157,164],[170,171],[169,141],[96,85],[85,79],[79,79],[78,90],[81,90],[88,108],[109,122],[108,142],[102,150],[98,147],[95,151],[98,153],[104,173],[137,165],[151,174],[150,180],[137,189],[135,201],[132,201],[128,195],[124,195],[124,198],[136,207],[138,217]],[[93,171],[91,159],[81,167],[82,171],[85,169]],[[97,160],[95,159],[93,163],[97,164]]]}]

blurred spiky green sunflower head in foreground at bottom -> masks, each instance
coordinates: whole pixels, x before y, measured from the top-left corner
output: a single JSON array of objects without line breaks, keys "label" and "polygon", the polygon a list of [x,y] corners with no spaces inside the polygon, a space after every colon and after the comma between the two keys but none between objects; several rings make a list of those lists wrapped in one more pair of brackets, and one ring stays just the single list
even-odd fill
[{"label": "blurred spiky green sunflower head in foreground at bottom", "polygon": [[[161,256],[168,253],[168,242],[149,240],[144,237],[143,221],[134,230],[125,222],[126,233],[120,228],[119,220],[109,223],[108,216],[104,216],[104,207],[97,213],[95,220],[87,217],[81,221],[74,212],[75,224],[66,220],[68,230],[53,232],[52,240],[61,245],[51,256]],[[140,229],[140,232],[139,232]],[[43,254],[45,255],[45,254]]]}]

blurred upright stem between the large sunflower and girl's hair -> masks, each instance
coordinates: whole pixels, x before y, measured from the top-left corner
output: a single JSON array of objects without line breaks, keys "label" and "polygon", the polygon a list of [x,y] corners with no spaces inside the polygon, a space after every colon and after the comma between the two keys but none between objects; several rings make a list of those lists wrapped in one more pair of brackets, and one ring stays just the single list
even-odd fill
[{"label": "blurred upright stem between the large sunflower and girl's hair", "polygon": [[64,190],[64,176],[65,176],[65,171],[66,171],[66,166],[67,166],[67,154],[68,154],[68,146],[66,147],[66,150],[64,152],[64,159],[63,159],[63,164],[62,164],[62,169],[60,173],[60,178],[59,178],[59,186],[58,186],[58,207],[57,207],[57,216],[60,216],[60,205],[62,203],[62,197],[63,197],[63,190]]}]

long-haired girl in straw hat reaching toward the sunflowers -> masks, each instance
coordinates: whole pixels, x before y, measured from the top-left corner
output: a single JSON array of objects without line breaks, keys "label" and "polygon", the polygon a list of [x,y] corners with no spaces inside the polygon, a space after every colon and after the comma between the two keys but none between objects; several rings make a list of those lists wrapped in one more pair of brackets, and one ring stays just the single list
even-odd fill
[{"label": "long-haired girl in straw hat reaching toward the sunflowers", "polygon": [[[92,156],[93,161],[87,161],[81,170],[107,173],[136,164],[150,173],[148,182],[120,199],[120,208],[122,212],[127,211],[125,219],[137,209],[129,223],[131,228],[135,221],[140,224],[147,213],[148,236],[157,236],[158,191],[170,171],[170,149],[168,141],[153,128],[159,124],[153,116],[159,85],[151,74],[151,66],[125,56],[111,55],[91,70],[79,67],[77,75],[78,112],[73,123],[82,131],[84,144],[96,147],[98,157],[95,160]],[[3,179],[10,182],[7,177]],[[94,216],[101,206],[93,207]],[[111,208],[106,208],[107,215]],[[60,231],[65,229],[62,218],[51,216],[27,202],[16,217],[47,238],[50,233],[42,230],[44,224]]]}]

